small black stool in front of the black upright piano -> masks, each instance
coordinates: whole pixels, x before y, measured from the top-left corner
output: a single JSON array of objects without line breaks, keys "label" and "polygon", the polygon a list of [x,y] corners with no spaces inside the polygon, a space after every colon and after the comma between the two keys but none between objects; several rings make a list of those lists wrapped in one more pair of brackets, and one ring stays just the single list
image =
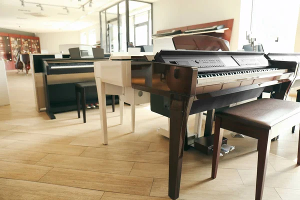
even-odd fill
[{"label": "small black stool in front of the black upright piano", "polygon": [[[77,114],[78,114],[78,118],[80,118],[79,93],[81,93],[81,105],[82,105],[83,123],[86,122],[86,118],[85,118],[85,88],[88,88],[88,87],[94,87],[94,88],[96,88],[96,81],[79,82],[79,83],[75,84],[75,93],[76,93],[76,102],[77,102]],[[114,95],[111,95],[111,98],[112,98],[112,111],[114,112],[114,104],[115,104]]]}]

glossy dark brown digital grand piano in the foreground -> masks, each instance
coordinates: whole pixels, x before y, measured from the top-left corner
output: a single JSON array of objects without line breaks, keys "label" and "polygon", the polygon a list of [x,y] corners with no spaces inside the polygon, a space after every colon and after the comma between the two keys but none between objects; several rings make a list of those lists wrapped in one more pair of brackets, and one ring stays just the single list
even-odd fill
[{"label": "glossy dark brown digital grand piano in the foreground", "polygon": [[132,88],[151,93],[151,110],[170,118],[168,195],[179,196],[187,143],[212,146],[210,134],[187,141],[190,114],[258,97],[268,86],[283,99],[297,70],[297,62],[268,61],[263,52],[161,50],[152,62],[132,64]]}]

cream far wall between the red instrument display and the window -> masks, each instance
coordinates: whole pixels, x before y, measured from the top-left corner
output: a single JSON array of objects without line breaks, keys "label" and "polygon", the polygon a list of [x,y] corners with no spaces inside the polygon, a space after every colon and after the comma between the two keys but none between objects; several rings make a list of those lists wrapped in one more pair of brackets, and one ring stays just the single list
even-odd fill
[{"label": "cream far wall between the red instrument display and the window", "polygon": [[59,44],[80,43],[79,31],[36,33],[39,37],[40,48],[49,53],[58,53]]}]

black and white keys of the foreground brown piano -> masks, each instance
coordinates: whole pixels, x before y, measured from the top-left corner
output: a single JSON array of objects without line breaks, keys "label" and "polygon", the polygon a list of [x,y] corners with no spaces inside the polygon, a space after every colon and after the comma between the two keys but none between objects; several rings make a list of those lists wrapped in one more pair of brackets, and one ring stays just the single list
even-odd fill
[{"label": "black and white keys of the foreground brown piano", "polygon": [[208,85],[225,82],[242,81],[248,79],[260,78],[263,76],[274,76],[286,73],[287,69],[278,68],[264,68],[264,69],[251,69],[244,71],[228,71],[209,74],[198,74],[197,85]]}]

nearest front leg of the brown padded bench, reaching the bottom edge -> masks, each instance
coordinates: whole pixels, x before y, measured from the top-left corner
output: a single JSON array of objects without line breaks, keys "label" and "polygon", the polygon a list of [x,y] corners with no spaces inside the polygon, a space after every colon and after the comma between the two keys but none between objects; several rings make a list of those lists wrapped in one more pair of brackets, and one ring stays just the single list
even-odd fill
[{"label": "nearest front leg of the brown padded bench, reaching the bottom edge", "polygon": [[262,199],[264,179],[266,173],[266,166],[271,145],[271,130],[266,130],[265,133],[260,134],[258,139],[258,161],[256,174],[256,191],[255,200]]}]

